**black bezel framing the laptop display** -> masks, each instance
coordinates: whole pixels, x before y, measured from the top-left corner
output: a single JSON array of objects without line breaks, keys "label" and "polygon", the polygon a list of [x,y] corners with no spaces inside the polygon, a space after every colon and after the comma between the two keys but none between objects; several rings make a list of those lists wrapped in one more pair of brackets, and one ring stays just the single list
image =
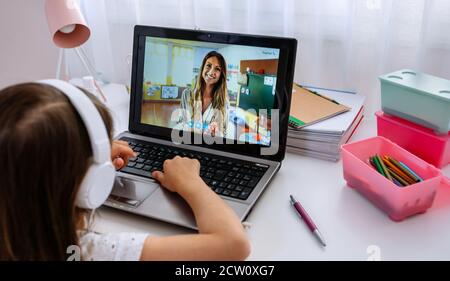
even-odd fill
[{"label": "black bezel framing the laptop display", "polygon": [[273,155],[261,155],[261,148],[267,147],[259,144],[193,144],[205,146],[211,149],[237,154],[245,154],[257,158],[281,162],[286,152],[287,128],[289,122],[290,101],[294,68],[297,50],[297,40],[292,38],[280,38],[270,36],[257,36],[245,34],[232,34],[223,32],[185,30],[165,28],[157,26],[141,26],[134,28],[133,40],[133,64],[131,74],[131,97],[129,131],[133,134],[171,140],[172,129],[141,123],[141,108],[143,95],[143,76],[145,59],[145,38],[159,37],[200,42],[245,45],[255,47],[267,47],[280,50],[277,73],[277,87],[274,109],[279,109],[279,144],[278,152]]}]

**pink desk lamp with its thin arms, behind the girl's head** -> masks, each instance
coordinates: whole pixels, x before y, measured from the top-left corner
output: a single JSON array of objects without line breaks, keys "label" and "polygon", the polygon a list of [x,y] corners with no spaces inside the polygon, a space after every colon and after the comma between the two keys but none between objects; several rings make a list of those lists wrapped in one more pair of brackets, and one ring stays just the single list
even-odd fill
[{"label": "pink desk lamp with its thin arms, behind the girl's head", "polygon": [[[75,52],[83,63],[88,73],[94,78],[93,83],[99,91],[103,100],[106,97],[96,82],[96,71],[92,70],[86,53],[82,49],[83,45],[90,37],[91,31],[86,24],[86,20],[80,11],[77,0],[46,0],[45,13],[47,15],[48,27],[53,37],[53,42],[61,48],[59,55],[58,68],[56,77],[61,78],[61,65],[63,57],[65,57],[64,49],[75,48]],[[67,68],[67,63],[66,63]],[[66,69],[66,73],[67,73]]]}]

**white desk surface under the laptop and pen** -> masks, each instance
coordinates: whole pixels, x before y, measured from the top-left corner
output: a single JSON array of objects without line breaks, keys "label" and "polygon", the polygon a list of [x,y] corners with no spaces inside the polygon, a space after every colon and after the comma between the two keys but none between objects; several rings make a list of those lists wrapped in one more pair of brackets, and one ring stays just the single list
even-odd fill
[{"label": "white desk surface under the laptop and pen", "polygon": [[[122,89],[122,90],[120,90]],[[106,87],[118,124],[128,123],[127,94]],[[118,93],[118,91],[121,91]],[[366,118],[351,141],[376,135],[376,123]],[[444,169],[450,177],[450,165]],[[294,194],[322,232],[322,248],[289,204]],[[332,163],[286,154],[281,170],[247,218],[252,243],[249,260],[367,260],[371,245],[382,260],[450,260],[450,188],[441,188],[434,205],[423,215],[391,221],[381,210],[348,188],[342,162]],[[99,209],[95,229],[100,232],[137,231],[154,235],[192,233],[191,230],[124,213]],[[369,253],[368,253],[369,251]],[[376,255],[376,254],[375,254]]]}]

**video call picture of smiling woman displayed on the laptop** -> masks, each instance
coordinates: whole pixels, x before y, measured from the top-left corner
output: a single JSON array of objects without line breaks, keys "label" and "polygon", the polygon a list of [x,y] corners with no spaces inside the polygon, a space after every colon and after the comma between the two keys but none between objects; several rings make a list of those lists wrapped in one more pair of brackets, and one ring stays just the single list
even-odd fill
[{"label": "video call picture of smiling woman displayed on the laptop", "polygon": [[279,55],[146,37],[141,123],[270,145]]}]

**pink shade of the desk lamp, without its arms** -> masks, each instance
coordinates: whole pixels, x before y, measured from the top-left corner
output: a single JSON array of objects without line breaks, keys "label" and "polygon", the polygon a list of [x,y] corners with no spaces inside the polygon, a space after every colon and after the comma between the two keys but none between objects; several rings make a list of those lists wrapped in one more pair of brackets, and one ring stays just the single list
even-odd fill
[{"label": "pink shade of the desk lamp, without its arms", "polygon": [[75,48],[89,39],[91,31],[76,0],[46,0],[45,13],[56,46]]}]

